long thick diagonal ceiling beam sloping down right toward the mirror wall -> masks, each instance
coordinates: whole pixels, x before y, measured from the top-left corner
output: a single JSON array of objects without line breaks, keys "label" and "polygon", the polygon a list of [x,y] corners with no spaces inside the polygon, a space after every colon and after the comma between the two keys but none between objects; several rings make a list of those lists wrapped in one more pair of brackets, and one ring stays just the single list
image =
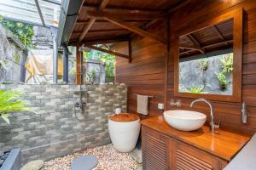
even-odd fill
[{"label": "long thick diagonal ceiling beam sloping down right toward the mirror wall", "polygon": [[91,11],[88,11],[87,14],[90,17],[108,20],[109,22],[111,22],[117,26],[123,27],[130,31],[133,31],[142,37],[148,37],[151,40],[154,40],[156,42],[160,42],[163,45],[166,45],[166,42],[163,41],[162,39],[160,39],[159,37],[156,37],[153,34],[149,33],[148,31],[144,31],[143,29],[138,28],[137,26],[133,26],[130,23],[125,22],[124,20],[119,20],[118,18],[115,18],[112,15],[102,14],[101,12],[96,13],[96,12],[91,12]]}]

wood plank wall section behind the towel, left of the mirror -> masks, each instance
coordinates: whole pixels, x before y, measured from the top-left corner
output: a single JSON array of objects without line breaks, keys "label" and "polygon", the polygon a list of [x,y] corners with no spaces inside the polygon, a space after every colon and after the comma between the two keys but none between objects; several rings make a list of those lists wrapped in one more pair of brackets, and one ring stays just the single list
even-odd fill
[{"label": "wood plank wall section behind the towel, left of the mirror", "polygon": [[[148,31],[166,39],[166,26],[167,20],[161,20]],[[115,49],[120,53],[128,54],[126,47],[127,43],[124,42],[115,46]],[[153,99],[149,99],[149,115],[159,115],[157,104],[163,103],[165,94],[166,47],[148,38],[134,36],[131,39],[131,51],[131,64],[127,59],[116,58],[116,82],[124,82],[128,86],[128,111],[137,112],[135,94],[153,95]]]}]

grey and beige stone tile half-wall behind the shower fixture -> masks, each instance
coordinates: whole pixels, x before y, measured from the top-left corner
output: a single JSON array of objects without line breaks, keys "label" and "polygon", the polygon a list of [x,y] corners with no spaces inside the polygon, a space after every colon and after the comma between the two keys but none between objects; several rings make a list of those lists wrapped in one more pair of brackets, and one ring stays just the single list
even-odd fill
[{"label": "grey and beige stone tile half-wall behind the shower fixture", "polygon": [[83,112],[75,114],[79,101],[76,85],[0,85],[24,91],[27,106],[38,114],[15,113],[10,124],[0,118],[0,150],[21,148],[22,162],[49,160],[108,144],[108,116],[115,108],[126,111],[127,88],[122,85],[82,86]]}]

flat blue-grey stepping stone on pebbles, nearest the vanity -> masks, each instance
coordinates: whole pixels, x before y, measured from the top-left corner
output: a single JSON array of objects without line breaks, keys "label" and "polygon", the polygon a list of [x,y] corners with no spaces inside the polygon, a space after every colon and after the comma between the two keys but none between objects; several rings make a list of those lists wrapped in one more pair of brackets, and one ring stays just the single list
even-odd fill
[{"label": "flat blue-grey stepping stone on pebbles, nearest the vanity", "polygon": [[96,165],[96,156],[79,156],[71,163],[71,170],[91,170]]}]

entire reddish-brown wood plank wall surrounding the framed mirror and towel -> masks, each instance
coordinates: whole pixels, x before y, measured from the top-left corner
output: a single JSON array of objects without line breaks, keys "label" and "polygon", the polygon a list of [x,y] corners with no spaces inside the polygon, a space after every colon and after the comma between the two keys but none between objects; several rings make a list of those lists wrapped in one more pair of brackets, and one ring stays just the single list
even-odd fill
[{"label": "entire reddish-brown wood plank wall surrounding the framed mirror and towel", "polygon": [[[218,14],[235,9],[244,9],[243,23],[243,63],[242,63],[242,101],[246,102],[249,111],[247,124],[241,123],[241,103],[213,102],[216,122],[221,126],[241,133],[256,133],[256,1],[255,0],[193,0],[171,15],[170,23],[176,29],[193,26]],[[167,39],[167,22],[156,23],[148,31]],[[178,29],[177,29],[178,28]],[[175,32],[170,32],[171,37]],[[170,42],[172,48],[172,38]],[[125,53],[125,45],[116,46],[119,52]],[[173,96],[173,59],[166,55],[166,48],[147,38],[132,38],[132,63],[117,59],[116,81],[128,85],[128,111],[136,112],[137,99],[134,94],[154,95],[150,101],[150,115],[160,115],[157,103],[167,101],[167,110],[174,109],[169,105],[170,99],[181,99],[183,109],[189,109],[192,99]],[[167,57],[167,71],[165,71]],[[236,68],[235,68],[236,69]],[[165,81],[167,76],[167,82]],[[165,90],[165,82],[167,89]],[[166,96],[166,98],[165,98]],[[180,109],[180,108],[178,108]],[[209,116],[207,105],[195,105],[197,111]]]}]

